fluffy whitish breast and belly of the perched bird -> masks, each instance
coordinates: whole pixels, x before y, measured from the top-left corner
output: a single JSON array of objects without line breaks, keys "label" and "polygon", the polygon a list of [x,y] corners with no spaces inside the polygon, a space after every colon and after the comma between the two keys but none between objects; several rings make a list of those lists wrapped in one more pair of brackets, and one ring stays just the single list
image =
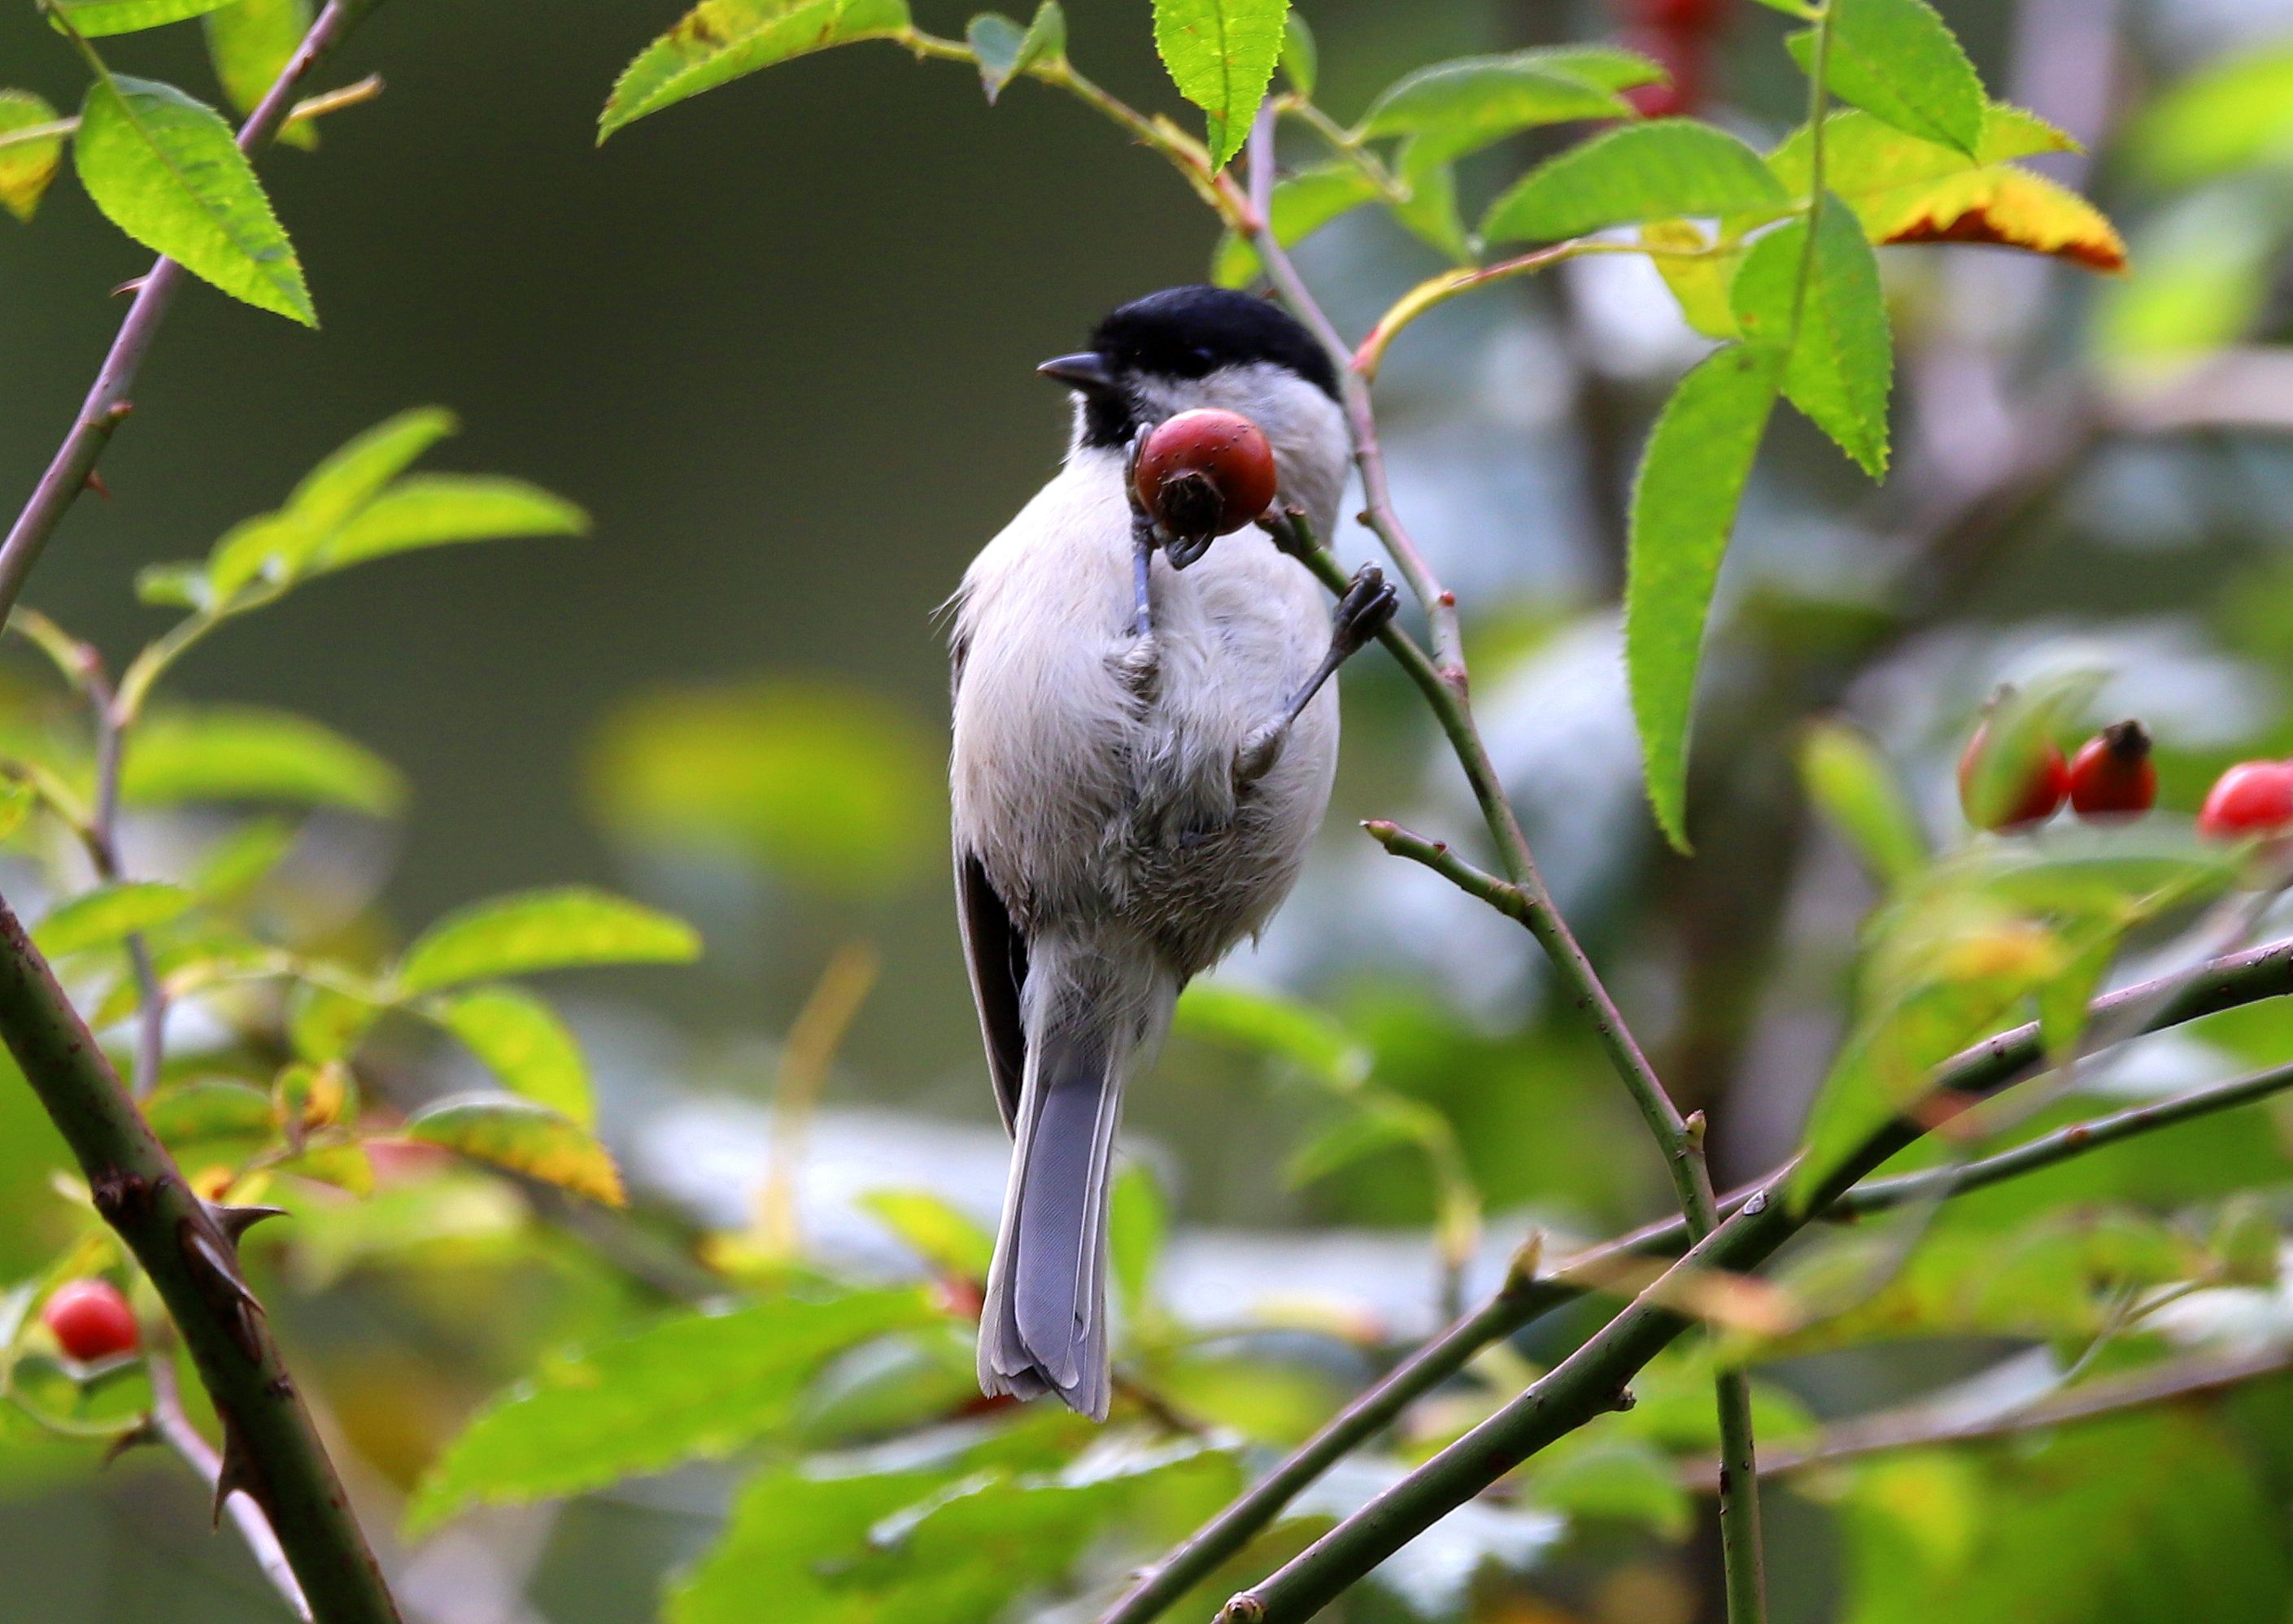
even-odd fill
[{"label": "fluffy whitish breast and belly of the perched bird", "polygon": [[1151,603],[1140,684],[1121,459],[1078,450],[963,578],[956,840],[1027,929],[1176,922],[1179,957],[1208,961],[1263,924],[1321,821],[1335,688],[1241,805],[1234,762],[1321,661],[1330,615],[1254,528],[1185,571],[1158,553]]}]

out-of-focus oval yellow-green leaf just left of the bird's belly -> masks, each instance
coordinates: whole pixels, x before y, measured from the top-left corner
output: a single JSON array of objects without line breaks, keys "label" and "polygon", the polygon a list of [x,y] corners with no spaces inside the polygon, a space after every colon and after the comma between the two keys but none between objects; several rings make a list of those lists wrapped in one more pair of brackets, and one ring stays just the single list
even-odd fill
[{"label": "out-of-focus oval yellow-green leaf just left of the bird's belly", "polygon": [[589,750],[589,803],[647,849],[761,862],[883,897],[940,849],[933,745],[881,695],[823,679],[642,695]]}]

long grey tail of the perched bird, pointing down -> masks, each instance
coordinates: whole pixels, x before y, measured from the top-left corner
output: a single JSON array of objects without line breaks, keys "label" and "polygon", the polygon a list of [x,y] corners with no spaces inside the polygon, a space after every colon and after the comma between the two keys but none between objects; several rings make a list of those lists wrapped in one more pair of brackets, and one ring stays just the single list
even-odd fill
[{"label": "long grey tail of the perched bird, pointing down", "polygon": [[1011,1184],[979,1314],[979,1385],[1108,1415],[1108,1190],[1124,1078],[1176,1000],[1144,957],[1030,952]]}]

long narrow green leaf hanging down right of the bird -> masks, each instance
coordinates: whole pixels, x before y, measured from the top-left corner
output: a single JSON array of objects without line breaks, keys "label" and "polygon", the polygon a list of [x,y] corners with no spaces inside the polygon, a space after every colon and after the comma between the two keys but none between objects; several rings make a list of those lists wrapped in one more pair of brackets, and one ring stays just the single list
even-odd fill
[{"label": "long narrow green leaf hanging down right of the bird", "polygon": [[1681,851],[1704,619],[1775,392],[1770,351],[1736,344],[1706,356],[1665,404],[1633,484],[1623,658],[1649,803]]}]

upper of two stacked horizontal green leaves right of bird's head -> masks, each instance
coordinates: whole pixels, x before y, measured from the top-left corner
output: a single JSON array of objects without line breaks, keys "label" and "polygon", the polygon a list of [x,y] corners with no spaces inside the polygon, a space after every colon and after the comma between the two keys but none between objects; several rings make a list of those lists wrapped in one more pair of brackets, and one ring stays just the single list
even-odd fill
[{"label": "upper of two stacked horizontal green leaves right of bird's head", "polygon": [[[1387,87],[1353,133],[1364,140],[1410,135],[1422,145],[1422,163],[1447,163],[1543,124],[1633,117],[1617,85],[1571,71],[1571,62],[1564,50],[1435,62]],[[1644,71],[1628,85],[1662,78],[1653,62],[1639,67]]]}]

